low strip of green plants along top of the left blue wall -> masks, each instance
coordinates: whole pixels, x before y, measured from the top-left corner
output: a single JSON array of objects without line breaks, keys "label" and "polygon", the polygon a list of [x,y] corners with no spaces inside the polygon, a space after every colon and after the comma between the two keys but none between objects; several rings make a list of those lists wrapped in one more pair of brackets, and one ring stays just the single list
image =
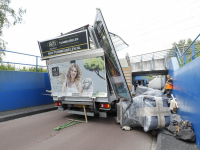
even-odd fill
[{"label": "low strip of green plants along top of the left blue wall", "polygon": [[[12,70],[12,71],[29,71],[29,72],[36,72],[36,67],[23,67],[23,68],[17,68],[13,64],[0,64],[0,70]],[[47,72],[47,69],[43,67],[38,67],[38,72]]]}]

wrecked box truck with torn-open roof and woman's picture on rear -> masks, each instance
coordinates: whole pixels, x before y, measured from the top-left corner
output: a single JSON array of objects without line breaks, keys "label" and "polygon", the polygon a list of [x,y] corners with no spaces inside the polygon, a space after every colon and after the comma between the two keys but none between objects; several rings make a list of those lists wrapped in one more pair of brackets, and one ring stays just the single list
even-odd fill
[{"label": "wrecked box truck with torn-open roof and woman's picture on rear", "polygon": [[112,36],[122,40],[109,33],[97,9],[93,25],[38,41],[58,110],[84,115],[84,106],[87,116],[107,117],[120,98],[131,99]]}]

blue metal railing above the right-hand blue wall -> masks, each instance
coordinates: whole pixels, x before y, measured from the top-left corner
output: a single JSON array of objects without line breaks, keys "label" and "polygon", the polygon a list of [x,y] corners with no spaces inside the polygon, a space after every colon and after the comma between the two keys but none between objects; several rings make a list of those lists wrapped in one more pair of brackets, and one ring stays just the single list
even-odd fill
[{"label": "blue metal railing above the right-hand blue wall", "polygon": [[186,48],[186,50],[180,49],[176,45],[174,48],[173,56],[176,56],[180,65],[185,65],[189,60],[194,60],[195,56],[200,53],[200,44],[195,44],[195,41],[199,38],[200,34],[195,38],[195,40]]}]

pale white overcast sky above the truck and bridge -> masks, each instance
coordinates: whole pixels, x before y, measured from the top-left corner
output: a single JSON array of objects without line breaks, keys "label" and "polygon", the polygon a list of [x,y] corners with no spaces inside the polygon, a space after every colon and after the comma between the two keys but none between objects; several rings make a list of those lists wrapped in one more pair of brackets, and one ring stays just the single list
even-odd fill
[{"label": "pale white overcast sky above the truck and bridge", "polygon": [[[117,52],[119,58],[170,49],[173,42],[194,40],[200,34],[200,0],[15,0],[10,7],[22,7],[27,13],[24,23],[3,29],[7,50],[37,56],[37,41],[93,25],[96,8],[108,30],[129,44]],[[6,53],[4,61],[35,64],[36,60]]]}]

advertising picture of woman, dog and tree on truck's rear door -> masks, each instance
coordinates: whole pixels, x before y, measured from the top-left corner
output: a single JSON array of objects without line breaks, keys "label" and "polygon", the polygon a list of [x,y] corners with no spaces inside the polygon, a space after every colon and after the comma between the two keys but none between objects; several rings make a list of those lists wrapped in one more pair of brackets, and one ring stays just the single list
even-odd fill
[{"label": "advertising picture of woman, dog and tree on truck's rear door", "polygon": [[107,97],[103,56],[50,64],[49,70],[54,96]]}]

